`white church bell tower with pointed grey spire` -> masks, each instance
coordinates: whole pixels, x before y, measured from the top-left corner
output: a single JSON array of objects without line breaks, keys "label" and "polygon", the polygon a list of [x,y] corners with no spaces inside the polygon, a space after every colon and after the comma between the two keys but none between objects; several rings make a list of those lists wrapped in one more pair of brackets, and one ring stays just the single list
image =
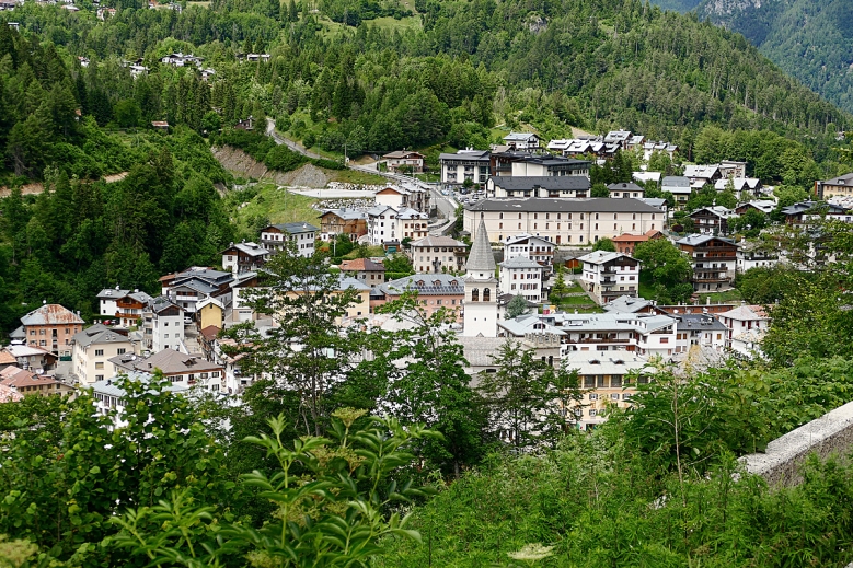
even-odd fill
[{"label": "white church bell tower with pointed grey spire", "polygon": [[497,337],[497,294],[495,255],[481,217],[465,265],[464,336]]}]

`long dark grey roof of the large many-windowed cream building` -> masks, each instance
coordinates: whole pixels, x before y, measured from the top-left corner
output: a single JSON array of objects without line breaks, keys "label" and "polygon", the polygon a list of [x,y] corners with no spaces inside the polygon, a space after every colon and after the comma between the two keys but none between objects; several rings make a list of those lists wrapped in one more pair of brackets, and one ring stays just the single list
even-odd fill
[{"label": "long dark grey roof of the large many-windowed cream building", "polygon": [[587,197],[561,199],[557,197],[531,197],[529,199],[484,199],[468,207],[469,211],[549,211],[549,212],[592,212],[592,213],[662,213],[656,207],[639,199],[611,199],[609,197]]}]

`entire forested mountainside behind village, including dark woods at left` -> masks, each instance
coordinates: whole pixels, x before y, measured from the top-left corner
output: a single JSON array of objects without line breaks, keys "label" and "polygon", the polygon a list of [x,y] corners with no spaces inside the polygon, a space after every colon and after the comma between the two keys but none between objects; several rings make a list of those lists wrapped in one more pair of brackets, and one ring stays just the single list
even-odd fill
[{"label": "entire forested mountainside behind village, including dark woods at left", "polygon": [[[325,152],[324,167],[344,150],[435,155],[511,128],[579,127],[671,140],[689,161],[746,160],[765,183],[807,188],[844,169],[834,132],[850,115],[741,36],[636,0],[119,2],[104,21],[80,8],[0,13],[20,24],[0,25],[4,333],[43,300],[90,314],[103,287],[155,292],[158,275],[215,265],[227,243],[254,237],[229,222],[219,192],[231,176],[209,147],[279,170],[304,160],[230,129],[249,116]],[[215,74],[160,62],[174,51]],[[270,59],[241,58],[252,51]],[[131,62],[148,71],[134,78]],[[34,181],[41,196],[15,193]]]}]

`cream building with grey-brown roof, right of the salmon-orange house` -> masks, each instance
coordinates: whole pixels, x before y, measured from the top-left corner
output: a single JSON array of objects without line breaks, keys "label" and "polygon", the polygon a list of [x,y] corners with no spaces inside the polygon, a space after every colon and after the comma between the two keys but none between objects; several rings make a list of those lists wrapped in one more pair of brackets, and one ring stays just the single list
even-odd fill
[{"label": "cream building with grey-brown roof, right of the salmon-orange house", "polygon": [[101,324],[74,334],[72,345],[73,374],[81,386],[115,375],[116,369],[109,358],[134,352],[126,335]]}]

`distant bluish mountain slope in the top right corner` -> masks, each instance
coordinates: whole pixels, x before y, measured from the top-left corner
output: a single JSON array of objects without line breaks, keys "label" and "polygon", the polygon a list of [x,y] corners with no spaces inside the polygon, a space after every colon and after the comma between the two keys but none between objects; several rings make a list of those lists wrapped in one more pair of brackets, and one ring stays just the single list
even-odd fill
[{"label": "distant bluish mountain slope in the top right corner", "polygon": [[853,111],[853,3],[848,0],[704,0],[700,19],[746,36],[828,101]]}]

